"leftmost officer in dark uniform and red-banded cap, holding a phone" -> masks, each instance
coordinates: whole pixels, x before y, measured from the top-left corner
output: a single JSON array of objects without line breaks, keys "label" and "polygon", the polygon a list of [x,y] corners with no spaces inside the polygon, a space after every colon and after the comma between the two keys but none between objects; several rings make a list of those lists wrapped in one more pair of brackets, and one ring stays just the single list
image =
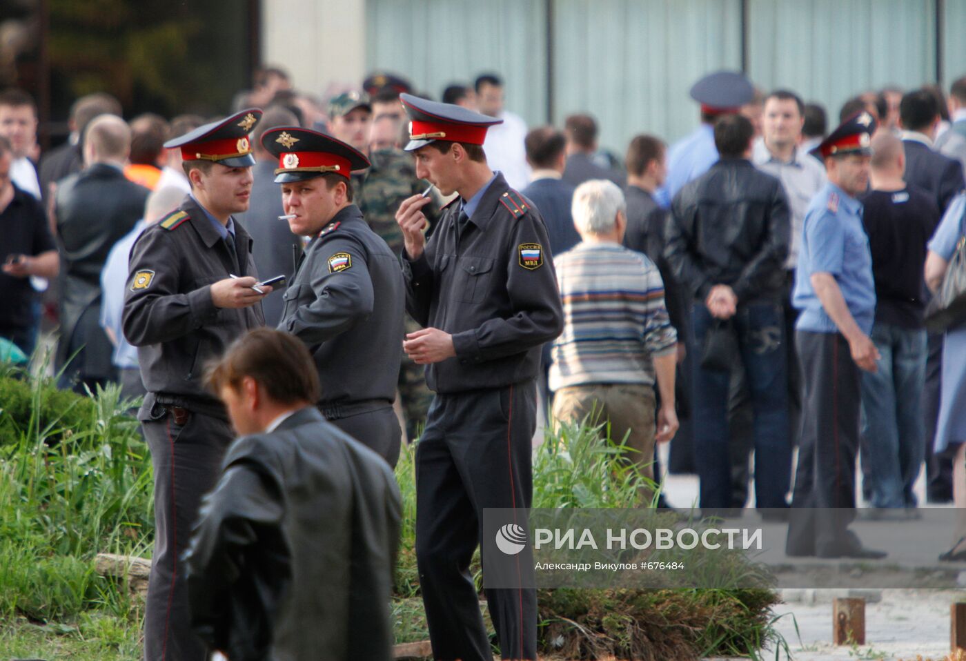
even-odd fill
[{"label": "leftmost officer in dark uniform and red-banded cap, holding a phone", "polygon": [[209,359],[264,325],[251,239],[232,214],[248,208],[251,109],[169,140],[181,148],[191,193],[131,249],[123,330],[138,347],[148,394],[138,412],[155,469],[155,553],[145,614],[147,661],[203,661],[191,632],[185,550],[201,496],[234,438],[224,405],[202,385]]}]

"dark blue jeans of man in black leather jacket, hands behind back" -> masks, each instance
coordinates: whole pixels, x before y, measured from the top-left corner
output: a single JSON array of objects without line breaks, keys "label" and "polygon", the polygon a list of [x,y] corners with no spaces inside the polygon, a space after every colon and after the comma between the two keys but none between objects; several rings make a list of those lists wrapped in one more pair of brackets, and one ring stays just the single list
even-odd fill
[{"label": "dark blue jeans of man in black leather jacket, hands behind back", "polygon": [[[704,335],[713,322],[703,303],[692,309],[695,369],[695,462],[701,508],[731,506],[726,371],[701,367]],[[754,412],[754,497],[758,507],[785,507],[791,481],[788,383],[781,304],[741,304],[733,318]]]}]

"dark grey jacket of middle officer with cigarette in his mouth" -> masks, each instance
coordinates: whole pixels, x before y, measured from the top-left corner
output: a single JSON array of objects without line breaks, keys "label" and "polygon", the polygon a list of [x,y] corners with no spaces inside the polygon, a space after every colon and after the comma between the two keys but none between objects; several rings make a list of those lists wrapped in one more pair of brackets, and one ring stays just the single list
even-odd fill
[{"label": "dark grey jacket of middle officer with cigarette in his mouth", "polygon": [[320,405],[340,415],[391,406],[403,355],[406,301],[399,259],[354,204],[312,239],[285,292],[280,331],[294,334],[315,359]]}]

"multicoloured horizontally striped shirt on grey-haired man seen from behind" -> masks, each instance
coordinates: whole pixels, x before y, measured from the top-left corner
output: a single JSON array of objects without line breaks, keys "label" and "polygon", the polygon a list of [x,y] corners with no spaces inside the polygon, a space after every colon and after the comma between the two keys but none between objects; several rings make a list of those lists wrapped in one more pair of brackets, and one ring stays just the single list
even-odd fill
[{"label": "multicoloured horizontally striped shirt on grey-haired man seen from behind", "polygon": [[577,244],[554,258],[563,332],[550,388],[654,384],[653,357],[675,350],[664,283],[645,255],[618,244]]}]

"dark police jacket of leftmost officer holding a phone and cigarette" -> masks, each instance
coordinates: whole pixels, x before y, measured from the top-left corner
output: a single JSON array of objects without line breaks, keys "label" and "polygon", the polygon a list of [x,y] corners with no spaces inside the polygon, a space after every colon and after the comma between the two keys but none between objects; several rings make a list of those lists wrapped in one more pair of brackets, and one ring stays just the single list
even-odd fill
[{"label": "dark police jacket of leftmost officer holding a phone and cigarette", "polygon": [[131,248],[122,329],[138,348],[146,406],[156,400],[227,419],[224,405],[202,385],[205,364],[245,331],[263,326],[265,317],[261,304],[215,307],[212,283],[229,273],[257,277],[251,244],[235,222],[237,273],[228,246],[188,195]]}]

